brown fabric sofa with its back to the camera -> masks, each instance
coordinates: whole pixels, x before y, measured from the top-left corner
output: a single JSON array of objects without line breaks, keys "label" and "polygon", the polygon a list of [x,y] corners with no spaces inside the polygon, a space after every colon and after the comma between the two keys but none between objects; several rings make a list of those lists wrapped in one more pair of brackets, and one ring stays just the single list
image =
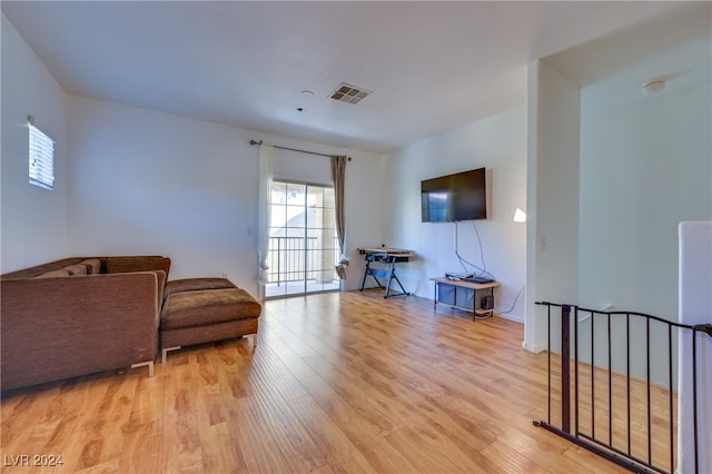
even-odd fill
[{"label": "brown fabric sofa with its back to the camera", "polygon": [[75,257],[0,277],[2,391],[148,366],[154,372],[161,256]]}]

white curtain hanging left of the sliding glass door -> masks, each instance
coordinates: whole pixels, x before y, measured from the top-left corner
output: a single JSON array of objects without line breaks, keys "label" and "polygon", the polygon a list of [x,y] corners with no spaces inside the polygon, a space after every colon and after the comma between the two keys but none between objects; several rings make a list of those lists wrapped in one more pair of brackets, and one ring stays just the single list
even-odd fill
[{"label": "white curtain hanging left of the sliding glass door", "polygon": [[257,217],[257,282],[260,285],[260,293],[267,285],[267,270],[269,265],[267,256],[269,254],[269,224],[271,218],[271,170],[275,148],[270,145],[259,146],[259,199]]}]

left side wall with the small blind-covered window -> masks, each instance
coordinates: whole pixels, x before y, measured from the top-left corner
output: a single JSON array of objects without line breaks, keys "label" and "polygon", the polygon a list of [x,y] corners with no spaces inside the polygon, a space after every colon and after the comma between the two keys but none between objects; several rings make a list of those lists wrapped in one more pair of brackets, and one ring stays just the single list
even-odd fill
[{"label": "left side wall with the small blind-covered window", "polygon": [[[28,182],[28,116],[55,141],[55,189]],[[2,16],[2,217],[0,273],[67,251],[67,97]]]}]

